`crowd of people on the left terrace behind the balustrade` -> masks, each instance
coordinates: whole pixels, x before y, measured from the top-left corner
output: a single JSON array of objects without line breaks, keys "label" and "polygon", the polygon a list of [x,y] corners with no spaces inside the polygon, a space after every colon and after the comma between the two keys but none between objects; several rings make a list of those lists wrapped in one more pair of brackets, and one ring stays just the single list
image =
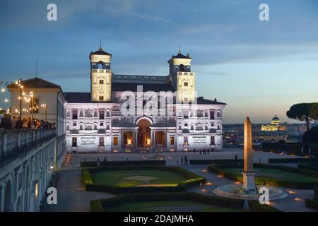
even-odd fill
[{"label": "crowd of people on the left terrace behind the balustrade", "polygon": [[13,116],[12,119],[8,114],[4,114],[1,118],[0,129],[53,129],[52,124],[43,119],[31,119],[31,117]]}]

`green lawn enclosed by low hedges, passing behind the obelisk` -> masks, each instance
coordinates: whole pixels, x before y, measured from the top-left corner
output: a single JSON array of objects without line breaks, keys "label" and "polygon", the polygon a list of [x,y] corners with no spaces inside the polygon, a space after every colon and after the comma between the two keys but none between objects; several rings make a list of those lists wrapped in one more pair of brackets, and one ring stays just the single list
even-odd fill
[{"label": "green lawn enclosed by low hedges, passing behind the obelisk", "polygon": [[[235,174],[241,175],[242,168],[225,168],[225,172],[234,172]],[[317,182],[317,177],[310,177],[302,174],[296,174],[293,172],[287,172],[280,169],[266,169],[256,168],[254,169],[256,178],[272,178],[279,179],[286,182],[303,183],[303,182]]]}]

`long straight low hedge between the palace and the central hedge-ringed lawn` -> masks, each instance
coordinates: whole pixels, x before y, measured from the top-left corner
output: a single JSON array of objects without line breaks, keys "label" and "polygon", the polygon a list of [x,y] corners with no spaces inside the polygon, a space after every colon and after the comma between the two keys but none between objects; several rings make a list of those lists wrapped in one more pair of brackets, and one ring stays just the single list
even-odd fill
[{"label": "long straight low hedge between the palace and the central hedge-ringed lawn", "polygon": [[[165,165],[165,160],[100,161],[100,167],[117,165]],[[81,162],[81,167],[97,167],[97,161]]]}]

